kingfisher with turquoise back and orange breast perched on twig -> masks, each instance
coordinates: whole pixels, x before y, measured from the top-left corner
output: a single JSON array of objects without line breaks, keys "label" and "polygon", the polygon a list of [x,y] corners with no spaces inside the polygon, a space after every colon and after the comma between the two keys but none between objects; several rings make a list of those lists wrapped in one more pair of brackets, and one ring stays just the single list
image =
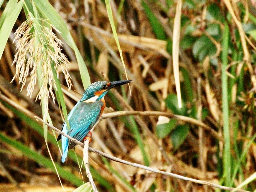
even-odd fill
[{"label": "kingfisher with turquoise back and orange breast perched on twig", "polygon": [[[70,129],[67,128],[66,121],[63,123],[61,131],[82,141],[90,130],[98,123],[106,106],[104,96],[113,87],[120,86],[132,80],[119,81],[96,81],[88,86],[84,94],[75,107],[68,114]],[[91,134],[91,133],[90,133]],[[67,158],[69,149],[74,148],[77,144],[70,141],[67,137],[59,135],[57,141],[61,139],[63,155],[61,161],[64,163]]]}]

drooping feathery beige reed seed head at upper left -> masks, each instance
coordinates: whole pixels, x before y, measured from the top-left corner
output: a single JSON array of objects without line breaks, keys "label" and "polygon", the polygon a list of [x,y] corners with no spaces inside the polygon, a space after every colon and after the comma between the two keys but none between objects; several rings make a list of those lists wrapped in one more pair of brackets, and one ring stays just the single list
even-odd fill
[{"label": "drooping feathery beige reed seed head at upper left", "polygon": [[[72,86],[71,77],[67,70],[69,61],[60,48],[63,43],[52,32],[52,28],[59,32],[47,20],[28,16],[28,19],[14,33],[15,40],[17,40],[17,53],[13,61],[13,64],[16,63],[16,73],[13,80],[16,77],[19,78],[22,90],[26,84],[26,78],[30,75],[31,79],[27,86],[27,95],[31,97],[36,85],[37,73],[39,73],[38,75],[41,76],[41,88],[36,96],[36,100],[39,99],[42,102],[43,99],[47,110],[48,99],[51,97],[53,102],[55,100],[53,86],[56,88],[56,83],[51,63],[54,63],[55,71],[60,66],[69,89]],[[32,69],[31,72],[30,69]],[[59,77],[58,72],[57,77]]]}]

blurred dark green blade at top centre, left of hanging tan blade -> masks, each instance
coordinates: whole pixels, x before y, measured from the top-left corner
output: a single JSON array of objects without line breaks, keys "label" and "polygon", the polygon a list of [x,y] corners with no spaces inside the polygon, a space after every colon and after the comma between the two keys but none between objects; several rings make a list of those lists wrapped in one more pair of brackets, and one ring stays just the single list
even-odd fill
[{"label": "blurred dark green blade at top centre, left of hanging tan blade", "polygon": [[151,11],[148,4],[144,0],[142,0],[141,5],[144,8],[144,11],[146,13],[146,16],[148,17],[148,20],[153,28],[154,33],[156,34],[156,38],[161,40],[166,40],[164,28],[162,27],[161,23],[158,21],[154,13]]}]

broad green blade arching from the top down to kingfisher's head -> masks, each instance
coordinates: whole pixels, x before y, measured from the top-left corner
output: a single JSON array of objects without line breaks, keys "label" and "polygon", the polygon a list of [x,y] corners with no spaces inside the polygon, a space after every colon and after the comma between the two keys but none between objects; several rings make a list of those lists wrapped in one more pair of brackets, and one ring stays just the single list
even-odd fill
[{"label": "broad green blade arching from the top down to kingfisher's head", "polygon": [[37,9],[40,11],[45,18],[49,19],[51,24],[53,24],[57,30],[61,32],[61,37],[67,42],[67,44],[74,49],[75,55],[77,57],[77,62],[79,66],[79,71],[81,74],[82,83],[84,90],[90,85],[90,76],[84,60],[62,18],[59,16],[57,11],[52,7],[52,5],[47,0],[33,0]]}]

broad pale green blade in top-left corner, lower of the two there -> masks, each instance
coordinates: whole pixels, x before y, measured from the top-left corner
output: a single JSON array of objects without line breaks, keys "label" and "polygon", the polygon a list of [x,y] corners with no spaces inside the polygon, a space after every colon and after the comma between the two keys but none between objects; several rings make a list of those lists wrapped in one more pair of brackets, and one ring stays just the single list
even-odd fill
[{"label": "broad pale green blade in top-left corner, lower of the two there", "polygon": [[9,1],[8,3],[10,3],[10,2],[11,2],[10,6],[13,6],[13,9],[4,18],[3,25],[0,29],[0,37],[1,37],[1,39],[0,39],[0,58],[2,57],[6,42],[9,38],[9,35],[13,29],[13,26],[19,16],[20,11],[23,6],[23,1],[19,1],[17,4],[14,4],[15,1]]}]

